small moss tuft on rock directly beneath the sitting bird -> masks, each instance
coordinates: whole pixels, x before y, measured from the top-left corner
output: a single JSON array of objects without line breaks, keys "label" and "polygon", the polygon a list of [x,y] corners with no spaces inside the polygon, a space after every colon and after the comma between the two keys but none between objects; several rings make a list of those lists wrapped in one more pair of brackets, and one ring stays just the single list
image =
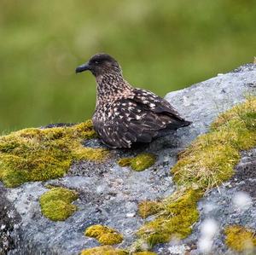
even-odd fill
[{"label": "small moss tuft on rock directly beneath the sitting bird", "polygon": [[154,165],[155,162],[154,154],[138,154],[135,158],[123,158],[119,159],[118,164],[120,166],[131,166],[134,171],[143,171]]}]

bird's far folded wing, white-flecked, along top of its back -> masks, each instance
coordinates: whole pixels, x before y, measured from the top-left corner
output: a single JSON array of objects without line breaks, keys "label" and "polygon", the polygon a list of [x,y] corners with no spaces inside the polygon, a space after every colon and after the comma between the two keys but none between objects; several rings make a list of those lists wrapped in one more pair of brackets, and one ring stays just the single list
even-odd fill
[{"label": "bird's far folded wing, white-flecked, along top of its back", "polygon": [[173,119],[181,120],[184,119],[177,113],[177,110],[172,107],[172,105],[166,101],[165,99],[161,98],[160,96],[155,95],[151,91],[148,90],[141,90],[141,89],[134,89],[134,101],[143,105],[143,107],[147,110],[150,110],[154,113],[164,113],[169,115]]}]

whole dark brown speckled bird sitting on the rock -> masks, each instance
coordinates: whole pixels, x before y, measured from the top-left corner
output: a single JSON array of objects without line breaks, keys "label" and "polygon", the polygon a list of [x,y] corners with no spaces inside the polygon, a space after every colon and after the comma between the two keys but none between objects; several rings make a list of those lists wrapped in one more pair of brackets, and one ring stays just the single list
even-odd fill
[{"label": "whole dark brown speckled bird sitting on the rock", "polygon": [[108,54],[96,54],[76,68],[96,77],[96,111],[92,122],[98,136],[110,148],[131,148],[151,142],[169,130],[190,125],[171,104],[148,90],[133,88],[122,75],[119,63]]}]

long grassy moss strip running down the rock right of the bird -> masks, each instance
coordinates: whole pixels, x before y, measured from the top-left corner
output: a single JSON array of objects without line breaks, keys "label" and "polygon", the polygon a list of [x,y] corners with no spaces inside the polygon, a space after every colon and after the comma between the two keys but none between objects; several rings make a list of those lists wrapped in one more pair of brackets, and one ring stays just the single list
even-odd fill
[{"label": "long grassy moss strip running down the rock right of the bird", "polygon": [[[256,97],[221,114],[211,130],[195,139],[172,168],[177,192],[161,203],[139,206],[143,217],[157,213],[137,232],[149,246],[187,237],[198,220],[197,201],[204,192],[227,181],[240,159],[239,152],[256,146]],[[147,206],[149,205],[149,208]]]}]

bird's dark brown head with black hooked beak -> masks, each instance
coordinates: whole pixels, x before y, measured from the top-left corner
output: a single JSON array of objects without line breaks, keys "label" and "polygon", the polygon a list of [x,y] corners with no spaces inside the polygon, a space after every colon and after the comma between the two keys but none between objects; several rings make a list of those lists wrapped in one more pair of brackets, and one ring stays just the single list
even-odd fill
[{"label": "bird's dark brown head with black hooked beak", "polygon": [[93,55],[88,62],[76,68],[76,72],[89,70],[94,76],[108,73],[122,74],[121,67],[111,55],[100,53]]}]

